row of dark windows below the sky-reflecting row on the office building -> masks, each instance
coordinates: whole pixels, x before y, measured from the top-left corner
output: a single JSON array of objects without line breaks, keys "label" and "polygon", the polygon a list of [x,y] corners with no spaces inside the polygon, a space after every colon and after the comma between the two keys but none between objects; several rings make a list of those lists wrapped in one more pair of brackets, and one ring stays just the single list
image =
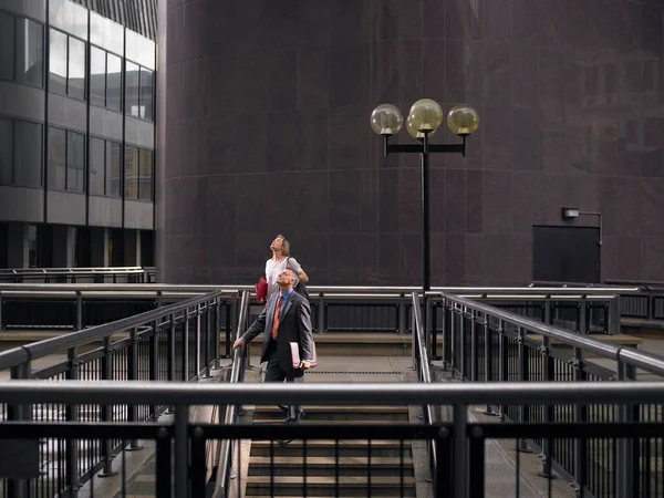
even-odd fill
[{"label": "row of dark windows below the sky-reflecting row on the office building", "polygon": [[[85,135],[49,126],[49,189],[85,191]],[[43,186],[43,126],[0,116],[0,185]],[[122,144],[90,138],[90,194],[121,197]],[[125,146],[124,195],[153,200],[153,151]]]}]

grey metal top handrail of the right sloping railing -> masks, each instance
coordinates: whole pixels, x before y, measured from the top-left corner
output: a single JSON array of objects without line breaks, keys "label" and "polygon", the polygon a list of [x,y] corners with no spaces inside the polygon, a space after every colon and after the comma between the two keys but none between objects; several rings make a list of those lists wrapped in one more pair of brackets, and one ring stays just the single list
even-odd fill
[{"label": "grey metal top handrail of the right sloping railing", "polygon": [[494,308],[481,302],[470,301],[458,295],[442,293],[442,297],[446,302],[456,303],[468,309],[480,311],[498,320],[520,326],[526,331],[533,332],[536,334],[542,334],[550,339],[556,339],[562,344],[578,347],[610,360],[620,361],[639,369],[645,369],[651,373],[664,376],[664,357],[662,356],[643,351],[636,351],[627,346],[611,344],[587,335],[566,332],[559,328],[537,322],[535,320],[501,310],[499,308]]}]

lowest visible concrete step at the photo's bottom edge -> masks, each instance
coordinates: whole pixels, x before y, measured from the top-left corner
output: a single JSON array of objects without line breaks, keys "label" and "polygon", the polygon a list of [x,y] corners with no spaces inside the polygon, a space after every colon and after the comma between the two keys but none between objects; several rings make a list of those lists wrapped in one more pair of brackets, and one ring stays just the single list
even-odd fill
[{"label": "lowest visible concrete step at the photo's bottom edge", "polygon": [[[273,479],[273,480],[272,480]],[[248,476],[248,496],[270,496],[274,484],[273,496],[302,496],[304,478],[298,476]],[[403,483],[404,492],[401,485]],[[335,496],[336,489],[343,490],[349,497],[381,496],[381,497],[415,497],[415,478],[413,477],[375,477],[371,479],[371,494],[369,494],[369,479],[360,477],[312,476],[307,477],[307,496]]]}]

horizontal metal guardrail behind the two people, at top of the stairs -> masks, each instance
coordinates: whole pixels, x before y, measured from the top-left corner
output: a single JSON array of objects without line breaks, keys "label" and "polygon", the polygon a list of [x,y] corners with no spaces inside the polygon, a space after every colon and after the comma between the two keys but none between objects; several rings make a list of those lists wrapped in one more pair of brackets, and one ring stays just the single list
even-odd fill
[{"label": "horizontal metal guardrail behind the two people, at top of the stairs", "polygon": [[[252,291],[251,286],[224,286],[229,292]],[[81,329],[145,311],[162,302],[219,289],[214,286],[165,284],[0,284],[0,323],[12,329]],[[315,332],[408,332],[411,294],[417,288],[310,287]],[[449,288],[432,292],[434,323],[442,326],[439,292],[490,302],[539,318],[549,307],[554,323],[579,333],[616,333],[616,292],[636,288]],[[581,308],[585,319],[582,321]],[[81,309],[83,311],[81,311]],[[77,321],[77,319],[81,321]],[[613,322],[612,322],[613,320]]]}]

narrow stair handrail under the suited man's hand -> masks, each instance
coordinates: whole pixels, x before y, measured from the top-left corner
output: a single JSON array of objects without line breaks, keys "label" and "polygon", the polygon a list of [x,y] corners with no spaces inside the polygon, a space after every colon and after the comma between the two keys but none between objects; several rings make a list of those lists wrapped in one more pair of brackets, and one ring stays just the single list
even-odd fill
[{"label": "narrow stair handrail under the suited man's hand", "polygon": [[[236,340],[241,336],[241,334],[245,332],[245,329],[247,328],[247,320],[249,318],[249,298],[250,298],[250,295],[249,295],[248,291],[242,292],[240,311],[239,311],[239,320],[238,320],[238,329],[237,329],[237,334],[235,338]],[[229,378],[230,384],[238,384],[243,380],[245,354],[246,354],[245,349],[242,349],[242,347],[235,350],[235,352],[232,354],[232,366],[231,366],[230,378]],[[226,413],[225,413],[224,422],[222,422],[224,425],[234,424],[236,422],[236,417],[237,417],[237,405],[227,404]],[[219,492],[225,492],[226,485],[230,477],[230,464],[232,461],[231,449],[232,449],[232,444],[228,439],[224,439],[219,444],[219,453],[217,456],[217,479],[215,481],[215,494],[212,495],[212,498],[217,498],[218,496],[225,496],[225,495],[219,495]]]}]

